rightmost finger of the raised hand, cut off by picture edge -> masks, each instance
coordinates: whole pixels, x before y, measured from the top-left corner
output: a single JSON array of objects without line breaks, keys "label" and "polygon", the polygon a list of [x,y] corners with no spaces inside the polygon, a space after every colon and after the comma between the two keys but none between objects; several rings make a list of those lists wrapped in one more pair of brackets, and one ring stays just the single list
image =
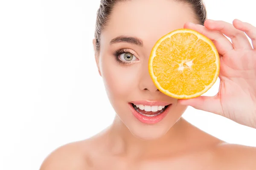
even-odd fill
[{"label": "rightmost finger of the raised hand, cut off by picture edge", "polygon": [[253,48],[256,48],[256,27],[249,24],[242,22],[240,20],[234,20],[233,25],[236,29],[239,29],[241,31],[244,31],[245,34],[248,35],[248,37],[252,40]]}]

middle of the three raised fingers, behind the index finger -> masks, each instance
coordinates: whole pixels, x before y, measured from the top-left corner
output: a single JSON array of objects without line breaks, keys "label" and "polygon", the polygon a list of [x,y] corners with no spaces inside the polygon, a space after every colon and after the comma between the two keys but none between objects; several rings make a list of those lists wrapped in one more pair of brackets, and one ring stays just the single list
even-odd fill
[{"label": "middle of the three raised fingers, behind the index finger", "polygon": [[230,37],[235,49],[252,49],[244,32],[236,29],[233,24],[224,21],[206,20],[204,26],[210,30],[220,31]]}]

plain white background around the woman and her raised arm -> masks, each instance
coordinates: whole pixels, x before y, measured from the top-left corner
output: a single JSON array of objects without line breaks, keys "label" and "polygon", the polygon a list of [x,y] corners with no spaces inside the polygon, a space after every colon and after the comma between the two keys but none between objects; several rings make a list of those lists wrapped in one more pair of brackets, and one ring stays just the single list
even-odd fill
[{"label": "plain white background around the woman and her raised arm", "polygon": [[[256,26],[254,0],[205,3],[210,19]],[[99,0],[0,0],[0,170],[39,169],[52,150],[111,124],[92,46],[98,7]],[[218,82],[207,94],[217,90]],[[183,117],[224,141],[256,146],[256,129],[192,108]]]}]

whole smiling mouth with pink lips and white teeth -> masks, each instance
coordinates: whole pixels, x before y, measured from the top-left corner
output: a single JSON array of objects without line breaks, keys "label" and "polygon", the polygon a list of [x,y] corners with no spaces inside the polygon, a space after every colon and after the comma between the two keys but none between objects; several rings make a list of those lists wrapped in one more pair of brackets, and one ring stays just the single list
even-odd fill
[{"label": "whole smiling mouth with pink lips and white teeth", "polygon": [[130,102],[131,112],[140,121],[146,124],[156,124],[167,115],[172,104],[163,102]]}]

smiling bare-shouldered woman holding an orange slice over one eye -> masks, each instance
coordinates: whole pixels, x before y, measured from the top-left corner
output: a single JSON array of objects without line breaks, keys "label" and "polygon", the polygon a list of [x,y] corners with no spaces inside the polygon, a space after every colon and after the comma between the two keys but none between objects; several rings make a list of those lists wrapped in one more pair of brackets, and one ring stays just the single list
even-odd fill
[{"label": "smiling bare-shouldered woman holding an orange slice over one eye", "polygon": [[[215,43],[221,55],[218,95],[177,100],[154,86],[149,54],[160,37],[177,28],[194,29]],[[256,169],[256,148],[227,144],[181,118],[190,105],[256,128],[255,27],[206,20],[201,0],[102,0],[93,44],[116,117],[96,136],[55,150],[41,170]],[[164,112],[163,119],[145,121]]]}]

